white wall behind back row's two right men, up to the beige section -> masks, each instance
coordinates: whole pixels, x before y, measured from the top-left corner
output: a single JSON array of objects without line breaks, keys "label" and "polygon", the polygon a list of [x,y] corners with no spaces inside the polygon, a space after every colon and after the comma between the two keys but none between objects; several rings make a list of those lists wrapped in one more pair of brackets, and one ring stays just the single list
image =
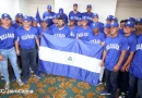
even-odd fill
[{"label": "white wall behind back row's two right men, up to the beige section", "polygon": [[55,0],[55,11],[58,12],[59,8],[63,8],[64,12],[69,14],[73,3],[79,4],[81,12],[85,12],[86,5],[92,4],[92,11],[98,13],[99,20],[105,22],[107,15],[115,15],[117,0]]}]

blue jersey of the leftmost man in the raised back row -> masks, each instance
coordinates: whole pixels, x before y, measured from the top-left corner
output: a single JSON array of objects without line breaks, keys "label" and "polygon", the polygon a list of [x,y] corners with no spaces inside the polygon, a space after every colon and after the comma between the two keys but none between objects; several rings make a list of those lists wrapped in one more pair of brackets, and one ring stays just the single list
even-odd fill
[{"label": "blue jersey of the leftmost man in the raised back row", "polygon": [[54,17],[55,14],[56,14],[55,12],[50,12],[50,13],[45,12],[43,14],[43,19],[48,20],[48,22],[49,22],[48,26],[52,25],[52,17]]}]

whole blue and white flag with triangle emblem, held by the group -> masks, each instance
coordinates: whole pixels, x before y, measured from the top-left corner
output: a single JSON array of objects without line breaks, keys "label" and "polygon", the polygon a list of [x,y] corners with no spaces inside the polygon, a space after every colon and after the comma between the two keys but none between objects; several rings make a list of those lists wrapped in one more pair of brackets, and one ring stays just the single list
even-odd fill
[{"label": "whole blue and white flag with triangle emblem, held by the group", "polygon": [[44,34],[39,48],[40,71],[97,85],[103,47],[80,39]]}]

